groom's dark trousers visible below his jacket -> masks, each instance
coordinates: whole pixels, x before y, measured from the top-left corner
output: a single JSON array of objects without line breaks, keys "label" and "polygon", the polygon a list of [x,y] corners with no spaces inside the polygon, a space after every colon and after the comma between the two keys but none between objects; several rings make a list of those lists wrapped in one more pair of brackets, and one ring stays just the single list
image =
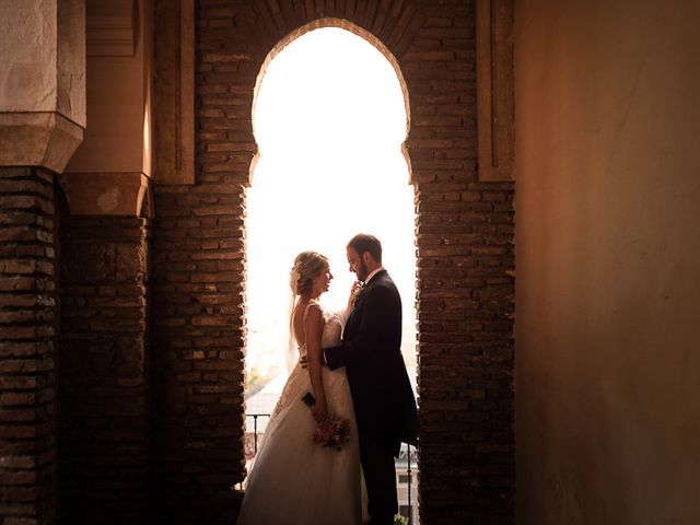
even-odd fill
[{"label": "groom's dark trousers visible below his jacket", "polygon": [[394,455],[372,436],[360,432],[360,460],[368,489],[370,523],[393,525],[394,515],[398,513]]}]

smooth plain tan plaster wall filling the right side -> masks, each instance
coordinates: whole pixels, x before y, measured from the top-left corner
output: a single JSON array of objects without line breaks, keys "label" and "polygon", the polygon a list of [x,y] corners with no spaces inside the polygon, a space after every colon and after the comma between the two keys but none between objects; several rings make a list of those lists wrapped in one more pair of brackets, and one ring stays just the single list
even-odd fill
[{"label": "smooth plain tan plaster wall filling the right side", "polygon": [[518,523],[700,523],[700,2],[515,3]]}]

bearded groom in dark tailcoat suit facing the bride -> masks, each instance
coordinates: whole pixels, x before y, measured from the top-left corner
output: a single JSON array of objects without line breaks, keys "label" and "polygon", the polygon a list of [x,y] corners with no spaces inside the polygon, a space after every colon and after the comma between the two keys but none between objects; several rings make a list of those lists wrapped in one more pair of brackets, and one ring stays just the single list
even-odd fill
[{"label": "bearded groom in dark tailcoat suit facing the bride", "polygon": [[352,393],[370,524],[393,524],[398,512],[396,470],[401,442],[418,442],[418,416],[401,357],[401,299],[382,266],[382,244],[359,234],[347,246],[350,271],[364,282],[339,347],[325,351],[334,370],[346,366]]}]

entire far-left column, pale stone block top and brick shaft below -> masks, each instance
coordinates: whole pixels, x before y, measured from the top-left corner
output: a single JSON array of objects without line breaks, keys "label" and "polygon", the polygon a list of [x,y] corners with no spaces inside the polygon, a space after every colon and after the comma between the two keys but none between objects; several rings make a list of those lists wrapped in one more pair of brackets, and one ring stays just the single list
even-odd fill
[{"label": "entire far-left column, pale stone block top and brick shaft below", "polygon": [[0,522],[57,521],[55,174],[85,126],[84,2],[0,0]]}]

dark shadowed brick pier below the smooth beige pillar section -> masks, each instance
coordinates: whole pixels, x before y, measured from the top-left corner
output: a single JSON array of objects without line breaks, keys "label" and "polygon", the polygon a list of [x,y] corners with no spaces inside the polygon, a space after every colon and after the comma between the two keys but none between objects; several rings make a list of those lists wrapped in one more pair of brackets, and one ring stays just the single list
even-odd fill
[{"label": "dark shadowed brick pier below the smooth beige pillar section", "polygon": [[62,523],[148,523],[149,221],[61,222]]}]

